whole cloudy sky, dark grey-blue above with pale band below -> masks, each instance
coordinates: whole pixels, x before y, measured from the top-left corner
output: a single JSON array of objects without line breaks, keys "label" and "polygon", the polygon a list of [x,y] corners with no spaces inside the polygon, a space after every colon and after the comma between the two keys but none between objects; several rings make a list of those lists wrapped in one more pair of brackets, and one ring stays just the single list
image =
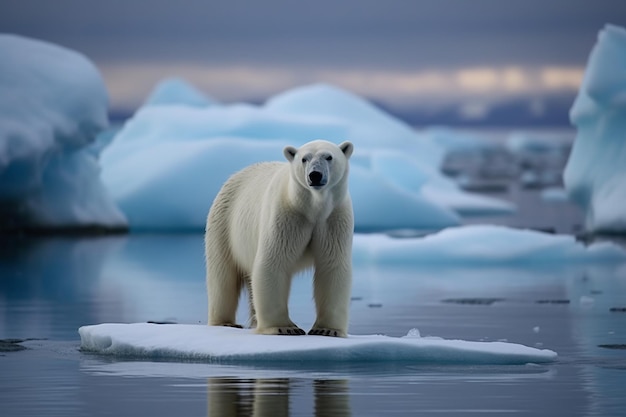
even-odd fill
[{"label": "whole cloudy sky, dark grey-blue above with pale band below", "polygon": [[0,0],[0,32],[82,52],[125,109],[178,76],[225,102],[327,82],[469,118],[519,98],[541,111],[575,94],[606,23],[626,26],[626,1]]}]

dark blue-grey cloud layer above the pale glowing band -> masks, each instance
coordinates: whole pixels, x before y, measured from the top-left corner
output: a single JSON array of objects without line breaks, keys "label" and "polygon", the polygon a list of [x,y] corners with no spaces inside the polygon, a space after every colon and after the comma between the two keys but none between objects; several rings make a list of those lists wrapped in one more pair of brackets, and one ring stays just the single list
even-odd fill
[{"label": "dark blue-grey cloud layer above the pale glowing band", "polygon": [[623,0],[0,0],[0,30],[96,60],[427,68],[583,64]]}]

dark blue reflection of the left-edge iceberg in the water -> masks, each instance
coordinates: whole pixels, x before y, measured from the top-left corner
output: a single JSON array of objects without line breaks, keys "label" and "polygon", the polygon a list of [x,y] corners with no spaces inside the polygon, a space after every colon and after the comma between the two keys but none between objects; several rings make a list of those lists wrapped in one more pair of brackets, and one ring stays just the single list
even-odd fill
[{"label": "dark blue reflection of the left-edge iceberg in the water", "polygon": [[123,240],[0,236],[0,334],[68,339],[85,322],[114,318],[118,300],[99,285]]}]

